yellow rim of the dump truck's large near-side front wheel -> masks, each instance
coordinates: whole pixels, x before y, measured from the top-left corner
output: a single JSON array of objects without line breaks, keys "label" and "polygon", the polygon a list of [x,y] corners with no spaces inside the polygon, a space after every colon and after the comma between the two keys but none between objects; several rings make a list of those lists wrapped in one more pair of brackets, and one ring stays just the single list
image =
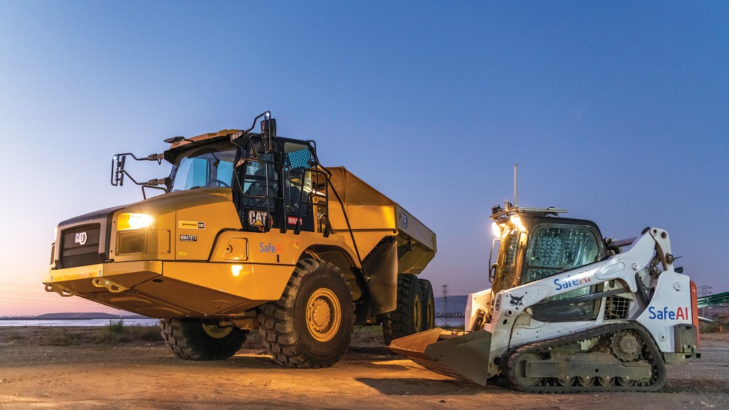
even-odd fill
[{"label": "yellow rim of the dump truck's large near-side front wheel", "polygon": [[314,292],[306,303],[306,328],[317,341],[330,341],[342,321],[339,299],[326,287]]}]

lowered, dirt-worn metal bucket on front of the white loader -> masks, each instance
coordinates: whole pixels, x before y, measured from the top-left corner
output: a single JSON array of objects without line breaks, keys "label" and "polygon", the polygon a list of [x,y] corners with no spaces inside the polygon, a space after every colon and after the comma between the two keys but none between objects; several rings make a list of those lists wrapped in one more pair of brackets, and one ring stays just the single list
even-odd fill
[{"label": "lowered, dirt-worn metal bucket on front of the white loader", "polygon": [[388,349],[424,368],[486,386],[491,333],[434,328],[392,341]]}]

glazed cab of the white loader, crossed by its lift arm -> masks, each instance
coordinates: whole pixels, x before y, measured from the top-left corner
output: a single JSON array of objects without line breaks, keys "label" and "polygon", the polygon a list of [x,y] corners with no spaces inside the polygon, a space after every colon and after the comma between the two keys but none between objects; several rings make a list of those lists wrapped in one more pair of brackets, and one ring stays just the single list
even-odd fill
[{"label": "glazed cab of the white loader, crossed by its lift arm", "polygon": [[[596,263],[606,254],[598,226],[588,220],[514,214],[496,220],[499,238],[494,241],[490,279],[492,293],[525,285],[555,274]],[[496,232],[495,232],[496,233]],[[533,306],[534,319],[542,322],[591,320],[599,310],[599,286],[546,298]]]}]

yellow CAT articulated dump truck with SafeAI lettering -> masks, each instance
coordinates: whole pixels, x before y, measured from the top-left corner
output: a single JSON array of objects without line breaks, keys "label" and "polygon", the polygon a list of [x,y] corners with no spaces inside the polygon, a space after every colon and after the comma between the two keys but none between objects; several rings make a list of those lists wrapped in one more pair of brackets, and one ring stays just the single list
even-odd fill
[{"label": "yellow CAT articulated dump truck with SafeAI lettering", "polygon": [[[434,327],[432,285],[417,275],[435,234],[322,166],[313,141],[277,137],[265,112],[245,131],[165,142],[161,154],[112,159],[112,185],[126,177],[144,201],[58,225],[47,291],[159,318],[166,344],[191,360],[231,357],[257,328],[276,362],[320,368],[354,325],[381,324],[386,343]],[[137,182],[128,158],[172,169]]]}]

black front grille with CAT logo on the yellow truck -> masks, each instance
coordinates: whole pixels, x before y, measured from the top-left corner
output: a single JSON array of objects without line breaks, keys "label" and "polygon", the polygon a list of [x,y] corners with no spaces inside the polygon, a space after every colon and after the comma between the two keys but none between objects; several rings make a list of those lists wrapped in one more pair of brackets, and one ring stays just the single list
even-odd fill
[{"label": "black front grille with CAT logo on the yellow truck", "polygon": [[[99,250],[101,224],[80,225],[61,233],[61,260],[63,268],[93,265],[104,262],[104,250]],[[101,256],[100,256],[101,254]]]}]

